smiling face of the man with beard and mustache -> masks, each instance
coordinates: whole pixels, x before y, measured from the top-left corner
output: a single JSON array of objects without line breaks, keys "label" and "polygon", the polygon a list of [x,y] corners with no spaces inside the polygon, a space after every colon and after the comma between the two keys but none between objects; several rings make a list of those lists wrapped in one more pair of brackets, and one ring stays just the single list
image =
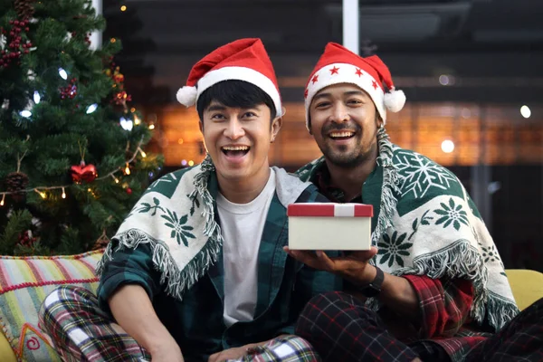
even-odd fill
[{"label": "smiling face of the man with beard and mustache", "polygon": [[319,91],[310,104],[310,131],[329,162],[357,167],[376,150],[376,106],[356,85],[335,84]]}]

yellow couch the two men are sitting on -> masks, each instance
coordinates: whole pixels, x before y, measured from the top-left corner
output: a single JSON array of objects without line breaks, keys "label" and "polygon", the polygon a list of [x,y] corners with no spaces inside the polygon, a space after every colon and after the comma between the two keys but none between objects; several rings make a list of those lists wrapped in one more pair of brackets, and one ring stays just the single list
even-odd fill
[{"label": "yellow couch the two men are sitting on", "polygon": [[[520,310],[543,298],[543,273],[529,270],[508,270],[515,300]],[[3,333],[0,333],[0,361],[17,362],[13,349]]]}]

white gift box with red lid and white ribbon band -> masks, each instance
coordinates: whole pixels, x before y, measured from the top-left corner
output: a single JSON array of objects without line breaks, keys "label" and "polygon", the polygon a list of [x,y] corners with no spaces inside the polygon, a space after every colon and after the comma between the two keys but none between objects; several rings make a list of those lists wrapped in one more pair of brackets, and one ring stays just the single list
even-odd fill
[{"label": "white gift box with red lid and white ribbon band", "polygon": [[369,250],[373,205],[291,204],[291,250]]}]

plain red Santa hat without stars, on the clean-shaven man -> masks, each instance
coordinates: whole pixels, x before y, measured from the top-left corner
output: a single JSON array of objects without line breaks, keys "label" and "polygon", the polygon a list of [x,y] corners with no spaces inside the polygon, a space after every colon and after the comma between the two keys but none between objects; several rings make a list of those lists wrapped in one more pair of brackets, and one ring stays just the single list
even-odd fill
[{"label": "plain red Santa hat without stars, on the clean-shaven man", "polygon": [[247,81],[265,91],[273,101],[275,112],[282,115],[281,96],[275,71],[262,41],[239,39],[205,55],[188,74],[186,86],[177,90],[177,100],[194,106],[198,97],[219,81]]}]

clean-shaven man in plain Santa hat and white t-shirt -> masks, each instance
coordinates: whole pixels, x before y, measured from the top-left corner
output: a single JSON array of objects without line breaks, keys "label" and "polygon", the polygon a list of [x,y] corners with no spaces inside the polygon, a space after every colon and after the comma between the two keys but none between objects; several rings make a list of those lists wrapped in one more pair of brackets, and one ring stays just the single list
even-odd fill
[{"label": "clean-shaven man in plain Santa hat and white t-shirt", "polygon": [[262,42],[206,55],[177,100],[196,105],[207,157],[149,186],[104,254],[98,299],[54,291],[43,328],[73,361],[316,361],[294,324],[341,281],[282,251],[286,206],[323,199],[269,165],[283,111]]}]

